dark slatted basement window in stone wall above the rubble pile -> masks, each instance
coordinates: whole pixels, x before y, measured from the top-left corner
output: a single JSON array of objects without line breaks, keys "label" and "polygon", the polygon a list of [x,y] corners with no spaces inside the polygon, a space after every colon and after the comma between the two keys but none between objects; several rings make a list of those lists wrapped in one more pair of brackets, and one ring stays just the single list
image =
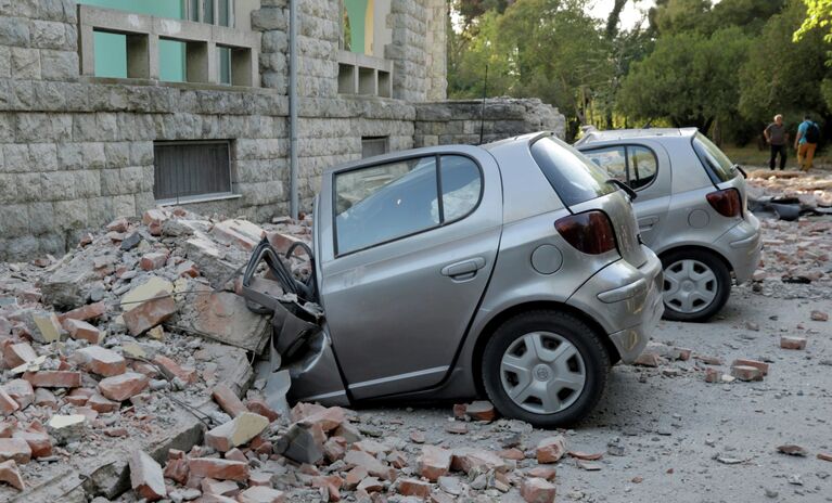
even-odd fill
[{"label": "dark slatted basement window in stone wall above the rubble pile", "polygon": [[228,141],[156,142],[154,197],[178,204],[231,195],[229,152]]}]

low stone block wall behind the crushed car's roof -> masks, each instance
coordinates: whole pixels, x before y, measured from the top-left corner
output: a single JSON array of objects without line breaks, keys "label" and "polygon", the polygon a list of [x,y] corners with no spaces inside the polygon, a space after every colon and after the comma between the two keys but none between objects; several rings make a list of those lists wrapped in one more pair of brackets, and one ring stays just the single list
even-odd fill
[{"label": "low stone block wall behind the crushed car's roof", "polygon": [[415,105],[415,146],[449,143],[483,143],[526,132],[549,130],[565,138],[565,117],[539,99],[495,98],[486,100],[485,120],[481,100],[452,100]]}]

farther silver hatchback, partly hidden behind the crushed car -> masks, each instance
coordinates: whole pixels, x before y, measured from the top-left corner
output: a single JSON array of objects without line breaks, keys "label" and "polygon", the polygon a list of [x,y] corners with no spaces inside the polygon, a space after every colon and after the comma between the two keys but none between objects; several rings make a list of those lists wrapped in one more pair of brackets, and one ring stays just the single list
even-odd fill
[{"label": "farther silver hatchback, partly hidden behind the crushed car", "polygon": [[742,169],[695,128],[591,131],[576,146],[638,197],[644,243],[664,266],[665,318],[706,321],[759,263]]}]

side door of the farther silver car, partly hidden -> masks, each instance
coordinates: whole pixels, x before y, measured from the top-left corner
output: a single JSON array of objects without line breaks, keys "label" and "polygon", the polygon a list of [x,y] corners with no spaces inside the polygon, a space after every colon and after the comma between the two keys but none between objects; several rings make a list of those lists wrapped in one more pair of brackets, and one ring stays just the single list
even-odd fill
[{"label": "side door of the farther silver car, partly hidden", "polygon": [[670,158],[656,142],[628,142],[586,146],[581,152],[597,165],[606,169],[610,177],[632,188],[638,196],[632,209],[639,222],[642,242],[653,247],[658,241],[667,220],[670,204]]}]

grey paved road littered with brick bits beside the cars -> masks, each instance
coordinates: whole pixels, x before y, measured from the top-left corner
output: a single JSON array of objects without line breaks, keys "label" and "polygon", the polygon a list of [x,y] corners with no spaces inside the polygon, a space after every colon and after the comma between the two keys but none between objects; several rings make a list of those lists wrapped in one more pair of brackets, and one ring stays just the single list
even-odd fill
[{"label": "grey paved road littered with brick bits beside the cars", "polygon": [[[573,460],[562,460],[558,501],[832,501],[832,462],[816,457],[832,452],[832,322],[809,321],[812,309],[831,308],[832,300],[773,299],[740,287],[719,319],[708,324],[662,322],[656,341],[719,357],[726,373],[735,358],[770,361],[769,374],[759,383],[707,384],[695,370],[704,365],[695,360],[669,363],[666,367],[681,370],[671,377],[662,369],[615,366],[599,410],[566,435],[569,449],[604,452],[601,469],[587,472]],[[804,351],[780,349],[781,335],[806,336],[808,346]],[[458,436],[444,433],[449,407],[360,414],[399,438],[422,429],[428,442],[496,450],[512,428],[524,426],[508,421],[471,424],[468,435]],[[548,434],[525,433],[526,448]],[[624,447],[623,456],[606,453],[615,438]],[[785,443],[804,447],[808,456],[778,453],[777,447]],[[724,464],[717,456],[740,462]],[[526,460],[521,466],[527,463],[534,465]],[[636,483],[636,477],[643,480]],[[516,501],[513,493],[499,499]]]}]

